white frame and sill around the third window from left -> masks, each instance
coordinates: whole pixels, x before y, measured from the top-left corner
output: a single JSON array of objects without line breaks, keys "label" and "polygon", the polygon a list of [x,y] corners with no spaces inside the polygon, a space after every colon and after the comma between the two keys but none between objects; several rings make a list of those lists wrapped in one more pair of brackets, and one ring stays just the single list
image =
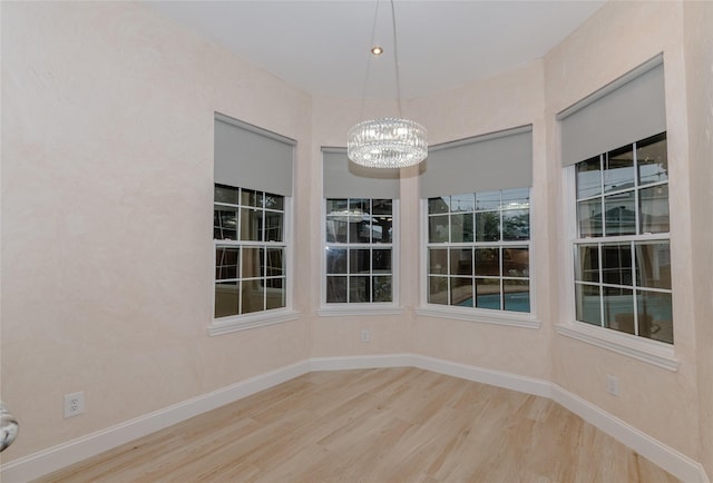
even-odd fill
[{"label": "white frame and sill around the third window from left", "polygon": [[[535,243],[533,240],[533,219],[535,211],[533,210],[533,188],[530,187],[530,238],[527,244],[530,252],[530,260],[535,253]],[[416,314],[426,317],[451,318],[456,321],[478,322],[482,324],[505,325],[510,327],[522,327],[539,329],[543,323],[537,318],[537,296],[536,296],[536,274],[529,270],[530,286],[530,312],[512,312],[512,310],[492,310],[478,307],[458,307],[453,305],[429,304],[428,300],[428,199],[420,200],[420,219],[427,220],[421,223],[421,256],[419,262],[419,280],[420,280],[420,306],[416,308]],[[498,245],[501,246],[501,245]],[[500,277],[502,278],[502,277]]]}]

